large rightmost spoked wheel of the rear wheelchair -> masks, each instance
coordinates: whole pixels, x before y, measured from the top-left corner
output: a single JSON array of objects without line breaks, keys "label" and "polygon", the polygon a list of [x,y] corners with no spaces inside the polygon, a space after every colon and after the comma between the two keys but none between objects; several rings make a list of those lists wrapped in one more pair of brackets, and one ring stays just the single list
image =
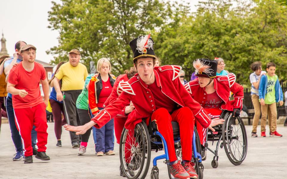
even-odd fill
[{"label": "large rightmost spoked wheel of the rear wheelchair", "polygon": [[222,141],[225,153],[233,165],[240,165],[247,154],[247,135],[244,123],[240,117],[225,115],[222,127]]}]

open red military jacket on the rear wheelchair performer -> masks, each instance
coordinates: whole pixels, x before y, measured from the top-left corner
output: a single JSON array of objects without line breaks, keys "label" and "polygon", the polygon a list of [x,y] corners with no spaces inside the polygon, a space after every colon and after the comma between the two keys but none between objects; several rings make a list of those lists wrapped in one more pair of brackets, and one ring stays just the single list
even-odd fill
[{"label": "open red military jacket on the rear wheelchair performer", "polygon": [[[233,73],[229,73],[226,76],[216,76],[214,79],[214,89],[217,95],[224,101],[220,109],[233,111],[233,108],[242,109],[243,105],[243,87],[236,83],[236,76]],[[186,90],[190,93],[191,97],[204,106],[206,102],[205,87],[199,86],[198,79],[188,82],[184,85]],[[229,101],[230,91],[234,94],[234,100]]]}]

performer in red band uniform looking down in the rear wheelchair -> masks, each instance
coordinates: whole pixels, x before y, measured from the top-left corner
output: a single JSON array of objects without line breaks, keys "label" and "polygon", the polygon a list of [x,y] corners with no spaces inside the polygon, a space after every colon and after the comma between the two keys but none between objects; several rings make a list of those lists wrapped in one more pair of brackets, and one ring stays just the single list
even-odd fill
[{"label": "performer in red band uniform looking down in the rear wheelchair", "polygon": [[[222,110],[233,111],[233,117],[238,117],[243,105],[243,87],[235,82],[236,76],[233,73],[216,76],[216,60],[196,59],[193,67],[198,79],[184,85],[191,97],[199,102],[212,119],[220,117]],[[229,101],[230,92],[234,94],[232,101]],[[196,129],[204,146],[207,128],[196,121]],[[202,158],[205,158],[205,154]]]}]

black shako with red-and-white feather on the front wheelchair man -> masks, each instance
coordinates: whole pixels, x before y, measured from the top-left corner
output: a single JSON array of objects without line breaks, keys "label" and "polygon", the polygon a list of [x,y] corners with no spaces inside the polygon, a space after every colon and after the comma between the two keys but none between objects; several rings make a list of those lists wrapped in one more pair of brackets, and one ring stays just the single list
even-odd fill
[{"label": "black shako with red-and-white feather on the front wheelchair man", "polygon": [[153,40],[149,35],[146,36],[139,36],[138,38],[133,39],[129,42],[129,46],[134,53],[134,59],[138,60],[140,58],[154,58],[155,59],[155,52],[153,51]]}]

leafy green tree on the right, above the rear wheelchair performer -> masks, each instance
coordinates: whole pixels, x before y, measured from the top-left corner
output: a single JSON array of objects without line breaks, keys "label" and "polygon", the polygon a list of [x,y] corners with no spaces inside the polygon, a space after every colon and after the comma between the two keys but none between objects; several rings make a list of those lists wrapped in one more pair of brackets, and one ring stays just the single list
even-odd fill
[{"label": "leafy green tree on the right, above the rear wheelchair performer", "polygon": [[198,10],[167,24],[156,35],[157,54],[166,64],[194,71],[196,58],[222,57],[237,82],[250,85],[250,65],[262,61],[277,64],[279,78],[287,77],[286,5],[268,0],[208,0]]}]

